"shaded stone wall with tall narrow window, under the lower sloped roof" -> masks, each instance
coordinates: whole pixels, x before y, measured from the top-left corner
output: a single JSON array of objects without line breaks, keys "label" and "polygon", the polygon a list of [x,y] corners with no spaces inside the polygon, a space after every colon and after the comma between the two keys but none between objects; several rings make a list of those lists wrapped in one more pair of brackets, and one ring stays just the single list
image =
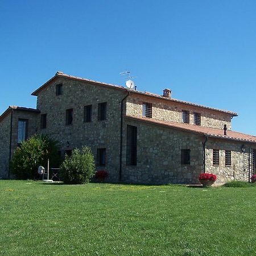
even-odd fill
[{"label": "shaded stone wall with tall narrow window, under the lower sloped roof", "polygon": [[[126,164],[127,125],[137,127],[137,165]],[[125,118],[122,181],[144,184],[199,184],[203,170],[203,137]],[[190,164],[181,164],[181,150],[190,149]]]}]

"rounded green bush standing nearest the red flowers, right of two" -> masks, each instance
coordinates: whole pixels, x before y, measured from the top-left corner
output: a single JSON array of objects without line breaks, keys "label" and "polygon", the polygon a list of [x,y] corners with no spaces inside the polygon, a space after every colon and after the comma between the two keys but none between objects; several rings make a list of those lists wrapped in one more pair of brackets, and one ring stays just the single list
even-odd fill
[{"label": "rounded green bush standing nearest the red flowers, right of two", "polygon": [[90,147],[75,148],[72,155],[65,156],[60,166],[61,180],[67,184],[85,184],[95,174],[95,164]]}]

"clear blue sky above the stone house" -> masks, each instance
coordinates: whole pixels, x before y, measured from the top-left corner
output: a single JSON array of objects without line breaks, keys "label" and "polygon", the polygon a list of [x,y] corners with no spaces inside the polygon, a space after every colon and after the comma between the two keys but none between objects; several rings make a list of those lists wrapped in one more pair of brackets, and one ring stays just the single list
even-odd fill
[{"label": "clear blue sky above the stone house", "polygon": [[0,2],[2,113],[63,71],[238,113],[256,135],[256,1]]}]

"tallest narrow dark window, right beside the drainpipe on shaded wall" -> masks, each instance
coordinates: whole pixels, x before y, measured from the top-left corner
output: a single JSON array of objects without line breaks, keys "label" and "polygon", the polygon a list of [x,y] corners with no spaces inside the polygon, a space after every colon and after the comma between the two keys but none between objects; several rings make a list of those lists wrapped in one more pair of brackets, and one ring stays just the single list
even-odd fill
[{"label": "tallest narrow dark window, right beside the drainpipe on shaded wall", "polygon": [[131,125],[127,125],[126,164],[137,165],[137,127]]}]

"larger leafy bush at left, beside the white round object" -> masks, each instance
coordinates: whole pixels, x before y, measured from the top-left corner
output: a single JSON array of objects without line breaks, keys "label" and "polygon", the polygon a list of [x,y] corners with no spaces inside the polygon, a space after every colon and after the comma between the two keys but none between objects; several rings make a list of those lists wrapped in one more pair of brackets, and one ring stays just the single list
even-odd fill
[{"label": "larger leafy bush at left, beside the white round object", "polygon": [[22,142],[14,151],[10,161],[10,172],[18,179],[36,179],[39,166],[59,167],[61,158],[57,154],[57,142],[47,135],[35,134]]}]

